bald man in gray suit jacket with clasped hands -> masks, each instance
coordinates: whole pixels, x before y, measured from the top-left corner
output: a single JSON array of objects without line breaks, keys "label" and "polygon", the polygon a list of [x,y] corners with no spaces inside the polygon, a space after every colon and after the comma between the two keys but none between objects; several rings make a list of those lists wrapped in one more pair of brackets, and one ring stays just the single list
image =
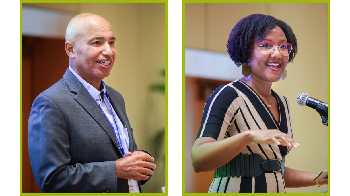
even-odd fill
[{"label": "bald man in gray suit jacket with clasped hands", "polygon": [[102,81],[117,52],[111,24],[83,13],[66,29],[69,67],[40,93],[28,121],[28,149],[43,193],[142,193],[156,167],[138,151],[121,94]]}]

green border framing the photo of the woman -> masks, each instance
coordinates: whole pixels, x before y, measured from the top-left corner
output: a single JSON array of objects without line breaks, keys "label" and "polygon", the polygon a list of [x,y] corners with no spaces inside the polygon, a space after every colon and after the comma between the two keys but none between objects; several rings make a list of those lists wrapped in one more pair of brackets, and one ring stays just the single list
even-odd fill
[{"label": "green border framing the photo of the woman", "polygon": [[[182,1],[182,195],[188,195],[185,193],[185,3],[203,3],[213,2],[210,0],[183,0]],[[218,2],[242,2],[242,1],[230,1],[221,0]],[[266,2],[266,1],[244,1],[250,2]],[[268,1],[268,2],[281,2],[281,1]],[[317,2],[328,3],[328,194],[330,195],[330,0],[328,1],[285,1],[288,2]],[[320,190],[321,191],[321,190]],[[302,195],[308,193],[302,193]],[[202,195],[201,193],[191,193],[191,195]],[[265,194],[261,194],[265,195]],[[300,195],[300,194],[299,194]]]}]

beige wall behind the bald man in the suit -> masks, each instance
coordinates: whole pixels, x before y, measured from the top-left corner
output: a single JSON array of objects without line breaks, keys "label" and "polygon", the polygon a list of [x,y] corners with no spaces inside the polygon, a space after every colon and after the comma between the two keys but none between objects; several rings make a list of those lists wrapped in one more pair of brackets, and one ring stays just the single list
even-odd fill
[{"label": "beige wall behind the bald man in the suit", "polygon": [[[165,69],[165,3],[23,3],[23,6],[76,15],[89,12],[110,22],[117,38],[117,58],[104,81],[123,95],[138,149],[152,154],[151,136],[165,127],[165,96],[149,91],[151,84],[165,81],[161,75]],[[162,193],[161,187],[165,186],[165,161],[155,160],[155,164],[153,179],[142,186],[144,193]]]}]

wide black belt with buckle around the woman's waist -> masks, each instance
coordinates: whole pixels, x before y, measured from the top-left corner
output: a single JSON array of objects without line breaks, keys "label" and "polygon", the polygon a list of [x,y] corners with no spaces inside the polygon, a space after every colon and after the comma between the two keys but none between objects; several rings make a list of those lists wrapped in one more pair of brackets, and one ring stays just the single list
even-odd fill
[{"label": "wide black belt with buckle around the woman's waist", "polygon": [[284,176],[284,162],[279,159],[263,159],[259,154],[241,154],[233,158],[229,163],[215,169],[214,178],[232,176],[258,177],[264,172],[280,173]]}]

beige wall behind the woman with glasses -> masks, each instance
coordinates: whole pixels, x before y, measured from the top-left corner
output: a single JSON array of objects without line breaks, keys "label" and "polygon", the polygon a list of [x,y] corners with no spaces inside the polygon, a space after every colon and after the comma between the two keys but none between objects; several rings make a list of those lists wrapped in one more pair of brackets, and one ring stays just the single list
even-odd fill
[{"label": "beige wall behind the woman with glasses", "polygon": [[[300,144],[286,157],[286,166],[308,172],[328,169],[328,127],[322,124],[315,110],[296,103],[296,96],[301,92],[328,103],[327,3],[186,3],[185,45],[227,53],[226,43],[232,28],[240,19],[256,13],[286,22],[298,42],[298,54],[286,68],[288,77],[272,85],[274,91],[289,100],[294,140]],[[186,134],[191,132],[198,133],[198,130],[185,131]],[[186,141],[186,159],[191,158],[192,146],[188,144],[193,143]],[[187,173],[193,167],[190,161],[186,163],[189,163],[186,164]],[[190,193],[187,187],[194,180],[186,181],[186,193]],[[327,188],[327,185],[287,188],[286,192],[316,193]]]}]

